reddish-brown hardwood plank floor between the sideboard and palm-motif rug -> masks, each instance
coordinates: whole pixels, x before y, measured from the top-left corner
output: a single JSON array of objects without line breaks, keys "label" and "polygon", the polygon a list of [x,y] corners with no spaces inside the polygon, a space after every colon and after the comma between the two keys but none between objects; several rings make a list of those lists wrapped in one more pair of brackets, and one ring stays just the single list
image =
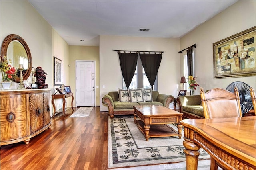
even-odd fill
[{"label": "reddish-brown hardwood plank floor between the sideboard and palm-motif rug", "polygon": [[[74,111],[76,111],[74,107]],[[94,107],[89,117],[51,118],[52,126],[24,142],[1,146],[1,170],[106,170],[108,113]]]}]

